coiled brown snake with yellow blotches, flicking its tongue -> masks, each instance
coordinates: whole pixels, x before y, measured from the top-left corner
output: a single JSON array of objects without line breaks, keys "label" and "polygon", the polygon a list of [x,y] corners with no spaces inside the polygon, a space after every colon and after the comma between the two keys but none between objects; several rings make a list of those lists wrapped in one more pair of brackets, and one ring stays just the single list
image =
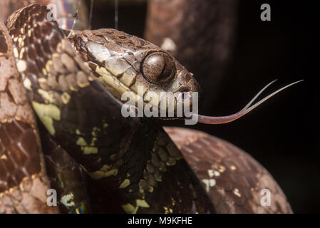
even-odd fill
[{"label": "coiled brown snake with yellow blotches, flicking its tongue", "polygon": [[[125,92],[200,91],[170,53],[112,28],[63,30],[49,12],[31,4],[0,24],[1,213],[292,212],[269,172],[229,142],[123,117]],[[199,121],[236,120],[284,88]]]}]

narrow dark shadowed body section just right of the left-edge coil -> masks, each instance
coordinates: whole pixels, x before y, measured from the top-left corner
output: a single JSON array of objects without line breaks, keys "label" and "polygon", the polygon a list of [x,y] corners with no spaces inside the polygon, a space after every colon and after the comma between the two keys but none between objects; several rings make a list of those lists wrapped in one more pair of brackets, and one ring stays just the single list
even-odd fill
[{"label": "narrow dark shadowed body section just right of the left-edge coil", "polygon": [[91,213],[87,174],[39,124],[41,145],[51,188],[56,190],[61,213]]}]

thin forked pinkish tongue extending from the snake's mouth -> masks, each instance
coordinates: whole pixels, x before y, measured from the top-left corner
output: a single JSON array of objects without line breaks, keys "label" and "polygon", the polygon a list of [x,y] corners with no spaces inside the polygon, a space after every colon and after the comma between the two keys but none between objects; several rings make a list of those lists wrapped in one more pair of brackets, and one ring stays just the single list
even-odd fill
[{"label": "thin forked pinkish tongue extending from the snake's mouth", "polygon": [[301,82],[303,80],[296,81],[296,82],[291,83],[291,84],[289,84],[287,86],[279,88],[279,90],[275,91],[274,93],[271,93],[270,95],[267,95],[267,97],[263,98],[262,100],[259,100],[259,102],[257,102],[254,105],[250,106],[254,102],[254,100],[256,100],[258,98],[258,96],[266,88],[268,88],[272,83],[274,83],[275,81],[277,81],[277,80],[274,80],[271,83],[269,83],[267,86],[264,86],[264,88],[262,88],[262,90],[260,90],[259,93],[257,93],[257,95],[255,95],[254,98],[252,98],[252,100],[250,100],[250,102],[244,108],[242,108],[242,110],[240,110],[239,112],[234,113],[232,115],[225,115],[225,116],[198,115],[198,122],[199,123],[205,123],[205,124],[223,124],[223,123],[232,122],[234,120],[237,120],[237,119],[241,118],[243,115],[246,115],[250,111],[254,110],[254,108],[257,108],[259,105],[264,103],[264,101],[268,100],[269,98],[271,98],[272,96],[276,95],[280,91],[288,88],[289,86],[293,86],[294,84],[299,83],[299,82]]}]

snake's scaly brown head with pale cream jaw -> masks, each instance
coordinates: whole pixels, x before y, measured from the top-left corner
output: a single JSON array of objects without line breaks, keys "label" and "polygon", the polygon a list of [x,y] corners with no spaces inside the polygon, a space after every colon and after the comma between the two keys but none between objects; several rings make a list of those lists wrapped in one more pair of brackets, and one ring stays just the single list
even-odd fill
[{"label": "snake's scaly brown head with pale cream jaw", "polygon": [[123,103],[135,97],[135,106],[143,100],[144,107],[148,103],[160,111],[165,107],[167,114],[173,105],[169,118],[177,118],[177,106],[188,103],[192,107],[192,96],[200,92],[192,73],[170,53],[142,38],[115,29],[98,29],[73,33],[70,40],[98,80]]}]

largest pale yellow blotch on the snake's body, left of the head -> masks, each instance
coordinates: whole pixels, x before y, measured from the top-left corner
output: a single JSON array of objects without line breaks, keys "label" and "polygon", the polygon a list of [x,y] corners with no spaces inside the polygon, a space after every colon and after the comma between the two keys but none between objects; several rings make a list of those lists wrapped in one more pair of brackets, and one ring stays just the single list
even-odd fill
[{"label": "largest pale yellow blotch on the snake's body, left of the head", "polygon": [[56,130],[53,126],[53,120],[60,120],[60,109],[56,105],[41,104],[36,101],[32,102],[32,107],[48,132],[54,135]]}]

